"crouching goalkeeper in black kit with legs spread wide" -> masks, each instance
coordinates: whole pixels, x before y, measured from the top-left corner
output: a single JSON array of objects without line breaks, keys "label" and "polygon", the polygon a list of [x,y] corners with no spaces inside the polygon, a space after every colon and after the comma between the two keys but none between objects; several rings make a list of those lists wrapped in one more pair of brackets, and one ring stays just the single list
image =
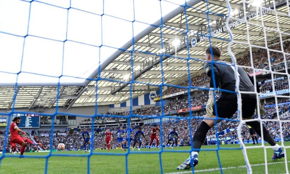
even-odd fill
[{"label": "crouching goalkeeper in black kit with legs spread wide", "polygon": [[[213,55],[213,57],[212,57]],[[210,80],[210,91],[208,94],[208,102],[206,104],[206,115],[205,118],[215,118],[216,112],[218,113],[218,117],[220,118],[231,118],[234,113],[237,111],[237,94],[234,92],[236,87],[236,79],[234,73],[234,67],[229,62],[221,61],[221,50],[212,46],[212,54],[211,49],[208,47],[205,51],[205,59],[208,62],[213,61],[214,63],[211,66],[211,63],[207,63],[205,65],[205,73],[211,77]],[[214,77],[212,77],[212,73],[214,73]],[[237,75],[240,78],[240,91],[242,92],[254,92],[254,81],[253,77],[250,77],[241,67],[238,67]],[[216,87],[220,89],[224,89],[230,92],[222,91],[221,97],[216,102],[217,111],[214,110],[214,83]],[[257,85],[258,88],[258,85]],[[257,89],[259,92],[259,89]],[[255,112],[255,107],[257,104],[256,94],[250,93],[242,93],[242,118],[243,120],[252,119],[253,114]],[[261,114],[264,114],[265,111],[258,104]],[[221,120],[217,120],[218,122]],[[251,126],[259,136],[261,136],[261,127],[259,121],[250,121],[246,122],[247,125]],[[199,125],[198,129],[195,131],[195,134],[192,138],[194,151],[191,152],[191,155],[188,159],[186,159],[182,164],[180,164],[177,169],[189,169],[191,167],[191,161],[193,166],[198,164],[198,153],[201,148],[202,143],[205,141],[206,134],[208,130],[214,126],[214,120],[212,119],[204,119]],[[279,147],[278,144],[271,137],[269,132],[263,127],[263,137],[264,140],[267,141],[274,150],[274,154],[272,156],[273,160],[281,159],[284,157],[284,152]]]}]

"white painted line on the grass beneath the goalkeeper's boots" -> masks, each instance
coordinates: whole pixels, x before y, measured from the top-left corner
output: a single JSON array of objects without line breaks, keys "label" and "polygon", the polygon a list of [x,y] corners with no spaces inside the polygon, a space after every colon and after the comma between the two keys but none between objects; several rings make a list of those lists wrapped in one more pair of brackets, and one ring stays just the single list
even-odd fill
[{"label": "white painted line on the grass beneath the goalkeeper's boots", "polygon": [[[271,164],[278,164],[278,163],[285,163],[285,161],[271,162],[271,163],[268,163],[268,165],[271,165]],[[290,161],[288,161],[288,163],[290,163]],[[264,166],[264,165],[265,165],[265,163],[261,163],[261,164],[253,164],[253,165],[251,165],[251,167]],[[237,169],[237,168],[246,168],[246,165],[244,165],[244,166],[237,166],[237,167],[222,167],[223,170],[227,170],[227,169]],[[212,172],[212,171],[216,171],[216,170],[221,170],[221,168],[212,168],[212,169],[195,170],[194,172]],[[192,170],[189,169],[189,170],[187,170],[187,171],[182,171],[182,172],[171,172],[171,173],[165,173],[165,174],[185,174],[185,173],[192,173]]]}]

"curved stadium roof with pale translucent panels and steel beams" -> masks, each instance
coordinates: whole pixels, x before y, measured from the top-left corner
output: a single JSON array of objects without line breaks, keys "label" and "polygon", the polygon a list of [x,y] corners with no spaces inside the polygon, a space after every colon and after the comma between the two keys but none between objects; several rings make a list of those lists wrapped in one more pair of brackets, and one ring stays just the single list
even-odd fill
[{"label": "curved stadium roof with pale translucent panels and steel beams", "polygon": [[[219,30],[226,24],[224,16],[228,14],[227,3],[225,0],[208,0],[207,2],[210,10],[208,16],[211,30]],[[270,2],[272,3],[272,1],[263,3],[266,3],[266,7],[269,7],[269,5],[271,6]],[[235,22],[236,25],[232,26],[231,29],[234,38],[231,50],[234,55],[248,52],[250,49],[248,43],[251,46],[264,46],[265,40],[267,40],[268,44],[278,42],[280,40],[279,31],[281,31],[282,37],[288,38],[290,36],[290,20],[289,16],[287,16],[289,15],[289,8],[285,5],[285,1],[276,2],[277,16],[274,11],[263,9],[265,14],[256,17],[254,16],[254,14],[257,14],[256,7],[251,4],[252,2],[250,1],[250,4],[246,5],[246,7],[243,7],[242,3],[243,1],[240,0],[230,1],[231,8],[233,8],[230,23]],[[239,23],[238,25],[238,22],[236,22],[239,21],[238,19],[243,18],[244,12],[241,9],[244,8],[246,8],[246,16],[251,16],[248,27],[246,24]],[[98,105],[120,103],[130,98],[130,84],[124,85],[124,83],[118,81],[128,82],[131,80],[131,60],[134,60],[134,76],[137,77],[135,79],[137,82],[132,85],[132,97],[142,95],[151,90],[159,90],[158,85],[162,83],[162,79],[166,84],[176,84],[182,79],[187,79],[188,67],[186,58],[188,57],[190,57],[188,61],[189,71],[191,75],[196,75],[203,71],[205,49],[210,44],[208,39],[200,39],[202,38],[201,34],[207,34],[208,32],[206,12],[206,2],[199,2],[192,8],[188,8],[186,14],[182,12],[165,22],[161,29],[158,27],[148,33],[138,40],[134,47],[131,46],[106,66],[101,71],[99,76],[101,79],[98,82],[91,81],[87,86],[81,87],[0,87],[0,108],[10,110],[13,106],[29,110],[35,107],[50,108],[59,105],[69,109],[71,106],[95,105],[96,94],[98,94]],[[260,22],[262,18],[263,23]],[[276,21],[279,21],[279,29]],[[262,24],[264,25],[266,36],[264,36]],[[230,59],[230,53],[227,51],[227,47],[230,44],[228,41],[230,35],[227,31],[213,34],[215,38],[211,38],[212,45],[222,49],[222,59]],[[187,50],[186,40],[191,41],[192,38],[197,38],[198,42],[195,47],[190,47]],[[161,64],[158,63],[162,53],[167,55],[162,56],[163,76],[161,74]],[[142,73],[140,74],[140,72]],[[56,102],[58,91],[60,99]],[[13,103],[14,97],[16,99]]]}]

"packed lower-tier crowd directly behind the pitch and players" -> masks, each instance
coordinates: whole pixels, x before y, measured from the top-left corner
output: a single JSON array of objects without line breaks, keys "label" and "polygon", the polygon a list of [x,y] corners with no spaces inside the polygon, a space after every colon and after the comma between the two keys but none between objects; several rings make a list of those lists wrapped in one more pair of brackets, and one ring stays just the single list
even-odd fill
[{"label": "packed lower-tier crowd directly behind the pitch and players", "polygon": [[[273,110],[275,110],[275,107],[269,107],[269,110],[267,110],[267,114],[271,113]],[[281,120],[289,120],[290,115],[288,113],[288,108],[280,108],[281,115],[280,119]],[[270,115],[271,117],[275,117],[273,115]],[[266,115],[265,117],[269,117],[269,115]],[[195,134],[195,130],[197,129],[198,125],[200,124],[202,120],[201,119],[192,119],[190,121],[191,123],[191,129],[192,129],[192,135]],[[218,123],[217,130],[219,132],[218,139],[220,140],[220,143],[224,143],[226,140],[228,143],[237,143],[238,137],[237,137],[237,126],[238,122],[233,122],[233,121],[222,121]],[[158,127],[160,127],[159,124],[156,124]],[[263,125],[269,130],[270,134],[273,136],[275,139],[281,139],[281,138],[289,138],[290,137],[290,123],[285,122],[282,123],[282,137],[280,136],[280,128],[279,128],[279,122],[263,122]],[[145,141],[142,138],[142,147],[148,146],[150,143],[150,132],[152,130],[153,124],[147,124],[142,126],[142,130],[146,136],[147,141]],[[107,127],[110,128],[110,131],[112,132],[112,135],[114,137],[114,134],[116,131],[119,129],[118,127]],[[133,128],[133,127],[132,127]],[[176,128],[176,131],[178,132],[178,138],[176,138],[177,143],[179,146],[190,146],[190,131],[189,131],[189,124],[188,120],[181,119],[181,120],[174,120],[174,121],[166,121],[162,123],[162,129],[163,129],[163,143],[162,145],[166,145],[168,142],[168,135],[169,132],[173,129]],[[224,130],[229,130],[229,131],[224,131]],[[94,130],[94,138],[93,138],[93,148],[94,149],[105,149],[106,148],[106,142],[105,142],[105,129],[102,131],[97,131],[96,129]],[[136,129],[134,130],[134,132]],[[205,141],[205,145],[207,144],[216,144],[218,141],[215,136],[215,128],[211,128],[207,134],[207,139]],[[76,131],[73,134],[67,134],[65,131],[63,132],[57,132],[56,134],[53,135],[53,147],[52,149],[57,149],[57,145],[59,143],[64,143],[66,150],[82,150],[83,147],[83,137],[81,135],[82,130]],[[92,130],[90,130],[90,134],[92,134]],[[134,134],[134,133],[133,133]],[[257,135],[258,136],[258,135]],[[242,137],[243,140],[251,140],[249,130],[247,128],[247,125],[243,125],[242,127]],[[3,145],[4,145],[4,136],[0,137],[0,151],[3,151]],[[28,146],[27,151],[30,150],[49,150],[50,149],[50,133],[48,131],[42,131],[42,133],[39,133],[35,135],[34,137],[32,136],[31,139],[34,139],[35,142],[41,143],[40,146],[38,147],[33,147],[33,146]],[[159,142],[161,142],[161,136],[158,133],[158,138]],[[260,137],[258,137],[260,138]],[[10,150],[10,144],[9,144],[10,137],[8,137],[8,144],[6,146],[6,151]],[[175,141],[174,141],[175,142]],[[137,143],[138,144],[138,143]],[[131,147],[133,145],[133,141],[130,143]],[[156,146],[156,140],[154,140],[153,146]],[[176,144],[175,144],[176,145]],[[111,148],[118,148],[118,143],[117,140],[113,138],[111,141]],[[18,150],[20,147],[18,146]]]}]

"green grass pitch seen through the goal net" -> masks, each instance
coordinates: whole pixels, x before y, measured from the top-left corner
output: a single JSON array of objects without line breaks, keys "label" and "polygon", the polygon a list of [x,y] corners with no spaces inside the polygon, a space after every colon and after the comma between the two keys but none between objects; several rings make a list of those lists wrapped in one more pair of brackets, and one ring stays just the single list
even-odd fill
[{"label": "green grass pitch seen through the goal net", "polygon": [[[290,142],[285,142],[286,146]],[[253,145],[247,145],[253,146]],[[256,146],[256,145],[254,145]],[[206,148],[216,148],[217,146],[203,146]],[[239,145],[221,145],[227,148],[239,148]],[[190,147],[175,147],[173,150],[189,150]],[[148,149],[141,149],[142,151],[149,151]],[[170,149],[167,149],[170,150]],[[150,151],[157,151],[152,148]],[[95,153],[125,153],[121,150],[95,150]],[[126,151],[127,152],[127,151]],[[132,151],[131,151],[132,152]],[[136,149],[134,152],[138,152]],[[133,153],[134,153],[133,152]],[[61,151],[53,153],[65,154],[81,154],[83,151]],[[253,173],[265,173],[264,165],[264,150],[263,148],[248,149],[247,150],[250,164],[252,165]],[[267,162],[269,174],[286,173],[285,161],[280,159],[272,161],[272,149],[267,149]],[[19,154],[19,153],[18,153]],[[24,153],[24,155],[47,155],[48,153]],[[10,154],[9,154],[10,155]],[[242,150],[220,150],[219,151],[223,172],[226,174],[233,173],[247,173]],[[287,150],[287,156],[290,155]],[[191,169],[177,171],[176,167],[188,158],[189,153],[176,153],[176,152],[163,152],[162,164],[163,172],[173,174],[191,173]],[[221,173],[218,165],[218,158],[216,151],[201,151],[198,155],[199,163],[195,167],[196,173],[201,174],[216,174]],[[87,157],[63,157],[52,156],[48,162],[49,174],[86,174],[87,173]],[[290,161],[288,161],[289,164]],[[45,159],[42,158],[11,158],[5,157],[0,166],[0,174],[18,174],[18,173],[31,173],[42,174],[44,173]],[[128,156],[129,173],[138,174],[156,174],[160,173],[159,154],[129,154]],[[288,165],[288,167],[290,167]],[[91,174],[123,174],[125,173],[125,156],[107,156],[107,155],[93,155],[90,159],[90,173]]]}]

